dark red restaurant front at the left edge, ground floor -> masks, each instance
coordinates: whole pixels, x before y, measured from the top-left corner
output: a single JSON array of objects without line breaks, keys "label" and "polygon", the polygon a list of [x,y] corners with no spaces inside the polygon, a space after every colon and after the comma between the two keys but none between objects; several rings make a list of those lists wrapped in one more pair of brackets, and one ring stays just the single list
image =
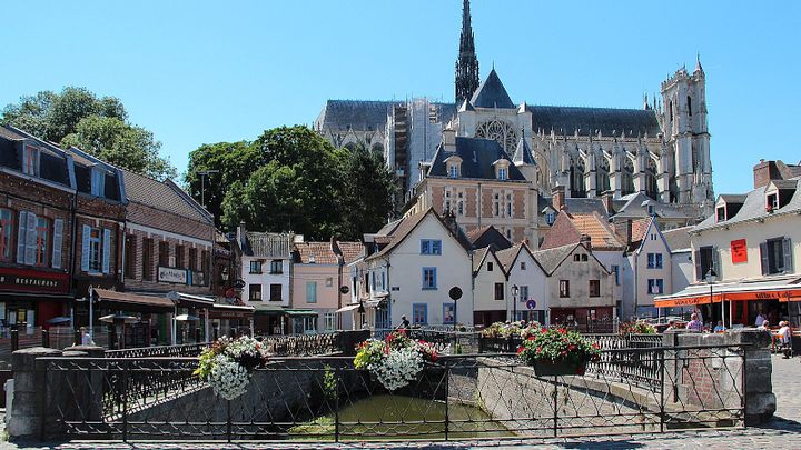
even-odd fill
[{"label": "dark red restaurant front at the left edge, ground floor", "polygon": [[0,268],[0,334],[47,327],[48,320],[70,317],[69,274]]}]

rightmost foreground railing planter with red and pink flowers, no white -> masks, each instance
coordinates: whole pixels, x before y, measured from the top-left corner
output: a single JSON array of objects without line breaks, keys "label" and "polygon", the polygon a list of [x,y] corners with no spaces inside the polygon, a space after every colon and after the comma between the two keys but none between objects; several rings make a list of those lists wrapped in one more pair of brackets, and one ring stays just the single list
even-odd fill
[{"label": "rightmost foreground railing planter with red and pink flowers, no white", "polygon": [[587,362],[601,358],[601,348],[577,331],[542,328],[523,341],[517,356],[540,377],[581,376]]}]

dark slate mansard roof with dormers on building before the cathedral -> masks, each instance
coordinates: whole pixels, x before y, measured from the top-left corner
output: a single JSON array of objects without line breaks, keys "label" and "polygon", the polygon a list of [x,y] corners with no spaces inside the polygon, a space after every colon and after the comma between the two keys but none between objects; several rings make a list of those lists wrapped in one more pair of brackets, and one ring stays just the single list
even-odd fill
[{"label": "dark slate mansard roof with dormers on building before the cathedral", "polygon": [[457,154],[462,158],[462,173],[459,178],[496,180],[493,162],[505,159],[510,161],[508,179],[512,181],[525,181],[525,177],[512,163],[512,159],[491,139],[456,137],[456,151],[445,151],[442,143],[437,147],[432,166],[428,169],[428,177],[447,177],[445,159]]}]

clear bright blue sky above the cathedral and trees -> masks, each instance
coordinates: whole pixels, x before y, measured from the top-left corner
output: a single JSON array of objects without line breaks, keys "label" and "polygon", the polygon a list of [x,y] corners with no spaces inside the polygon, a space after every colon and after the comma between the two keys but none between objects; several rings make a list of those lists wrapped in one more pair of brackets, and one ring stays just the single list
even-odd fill
[{"label": "clear bright blue sky above the cathedral and trees", "polygon": [[[0,107],[80,86],[122,100],[179,171],[201,143],[312,123],[326,99],[452,101],[461,0],[9,1]],[[640,108],[695,54],[715,193],[801,160],[801,2],[473,0],[513,101]]]}]

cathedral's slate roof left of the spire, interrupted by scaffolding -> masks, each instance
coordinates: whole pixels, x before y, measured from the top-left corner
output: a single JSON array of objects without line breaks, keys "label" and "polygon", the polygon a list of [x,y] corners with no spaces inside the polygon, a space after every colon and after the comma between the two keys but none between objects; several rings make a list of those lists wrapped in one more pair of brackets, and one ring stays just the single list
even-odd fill
[{"label": "cathedral's slate roof left of the spire, interrupted by scaffolding", "polygon": [[[322,129],[356,131],[383,131],[393,107],[405,101],[386,100],[328,100],[315,124]],[[431,103],[437,107],[441,123],[446,123],[456,114],[453,103]]]}]

